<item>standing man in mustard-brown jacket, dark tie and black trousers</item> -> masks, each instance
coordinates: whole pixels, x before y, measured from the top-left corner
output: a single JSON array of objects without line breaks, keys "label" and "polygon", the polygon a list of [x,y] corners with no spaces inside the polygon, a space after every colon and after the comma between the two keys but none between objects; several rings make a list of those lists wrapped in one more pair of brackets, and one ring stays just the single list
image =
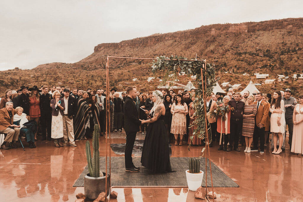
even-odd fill
[{"label": "standing man in mustard-brown jacket, dark tie and black trousers", "polygon": [[255,95],[256,101],[254,104],[257,105],[257,114],[255,117],[255,131],[253,135],[254,147],[251,149],[251,151],[258,151],[258,140],[260,138],[260,154],[264,153],[265,126],[269,112],[268,104],[262,100],[262,96],[262,93],[257,93]]}]

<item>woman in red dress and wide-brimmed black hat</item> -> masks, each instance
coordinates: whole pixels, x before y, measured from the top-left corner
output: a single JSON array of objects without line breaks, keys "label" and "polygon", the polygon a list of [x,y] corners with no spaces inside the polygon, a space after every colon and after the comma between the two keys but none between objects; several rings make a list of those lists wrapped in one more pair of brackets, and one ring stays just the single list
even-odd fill
[{"label": "woman in red dress and wide-brimmed black hat", "polygon": [[[31,120],[35,120],[37,122],[37,125],[39,123],[39,119],[41,116],[40,112],[40,92],[42,90],[38,89],[38,86],[33,86],[32,88],[28,89],[31,91],[31,94],[29,96],[29,113],[28,115],[31,117]],[[37,132],[35,132],[35,140],[37,140]]]}]

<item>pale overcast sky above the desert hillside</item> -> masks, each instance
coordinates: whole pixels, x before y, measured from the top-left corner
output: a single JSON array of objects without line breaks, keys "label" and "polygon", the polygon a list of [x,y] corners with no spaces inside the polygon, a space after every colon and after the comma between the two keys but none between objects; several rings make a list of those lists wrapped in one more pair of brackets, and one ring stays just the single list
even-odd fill
[{"label": "pale overcast sky above the desert hillside", "polygon": [[101,43],[302,14],[302,0],[1,0],[0,70],[74,63]]}]

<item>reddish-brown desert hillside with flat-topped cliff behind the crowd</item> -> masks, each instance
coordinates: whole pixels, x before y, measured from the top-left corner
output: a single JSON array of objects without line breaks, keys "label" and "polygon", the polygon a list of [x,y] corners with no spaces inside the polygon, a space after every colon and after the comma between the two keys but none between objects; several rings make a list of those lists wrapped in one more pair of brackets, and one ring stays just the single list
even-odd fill
[{"label": "reddish-brown desert hillside with flat-topped cliff behind the crowd", "polygon": [[[73,64],[42,64],[31,70],[0,71],[1,96],[6,89],[17,89],[25,84],[60,84],[69,87],[105,87],[106,56],[157,57],[178,55],[206,59],[215,63],[219,83],[241,83],[246,86],[254,73],[293,76],[303,73],[303,18],[287,18],[241,24],[212,24],[166,34],[153,34],[119,43],[98,44],[88,57]],[[110,59],[110,85],[118,90],[136,85],[140,90],[154,90],[159,80],[148,83],[148,77],[159,77],[147,72],[147,60]],[[228,72],[228,73],[225,73]],[[248,73],[249,76],[243,76]],[[138,81],[133,82],[133,78]],[[180,76],[178,83],[186,84],[190,77]],[[296,95],[303,94],[303,80],[282,79],[276,84],[257,86],[261,92],[290,87]]]}]

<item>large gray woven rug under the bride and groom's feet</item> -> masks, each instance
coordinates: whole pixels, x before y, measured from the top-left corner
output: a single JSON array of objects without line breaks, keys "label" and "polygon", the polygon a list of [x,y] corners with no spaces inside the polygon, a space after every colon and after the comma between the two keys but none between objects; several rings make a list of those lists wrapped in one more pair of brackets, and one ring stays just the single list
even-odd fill
[{"label": "large gray woven rug under the bride and groom's feet", "polygon": [[[109,160],[109,159],[108,159]],[[141,158],[133,157],[135,165],[139,166]],[[185,171],[188,170],[188,157],[171,157],[172,173],[151,174],[148,169],[141,167],[140,172],[125,172],[124,156],[112,157],[111,185],[123,187],[142,187],[142,186],[166,186],[183,187],[187,186]],[[205,187],[205,158],[200,159],[200,170],[204,172],[202,186]],[[211,186],[209,162],[207,172],[207,185]],[[100,170],[105,172],[105,157],[100,158]],[[212,179],[214,187],[239,187],[231,178],[221,171],[215,164],[211,163]],[[109,172],[109,170],[108,170]],[[88,168],[85,167],[80,177],[73,187],[84,186],[84,176],[88,174]]]}]

